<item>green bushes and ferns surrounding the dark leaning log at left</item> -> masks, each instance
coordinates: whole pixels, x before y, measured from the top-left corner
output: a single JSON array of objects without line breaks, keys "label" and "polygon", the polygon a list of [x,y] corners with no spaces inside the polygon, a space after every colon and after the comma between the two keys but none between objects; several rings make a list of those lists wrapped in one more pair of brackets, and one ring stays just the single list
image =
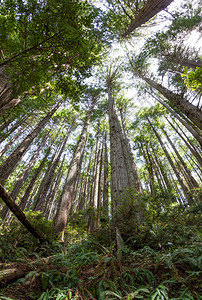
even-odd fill
[{"label": "green bushes and ferns surrounding the dark leaning log at left", "polygon": [[53,254],[61,246],[54,241],[53,222],[48,221],[42,216],[42,213],[36,211],[25,212],[26,217],[31,221],[34,227],[52,244],[41,245],[27,229],[15,218],[11,220],[10,225],[0,227],[0,260],[16,261],[26,259],[28,256],[48,256]]}]

